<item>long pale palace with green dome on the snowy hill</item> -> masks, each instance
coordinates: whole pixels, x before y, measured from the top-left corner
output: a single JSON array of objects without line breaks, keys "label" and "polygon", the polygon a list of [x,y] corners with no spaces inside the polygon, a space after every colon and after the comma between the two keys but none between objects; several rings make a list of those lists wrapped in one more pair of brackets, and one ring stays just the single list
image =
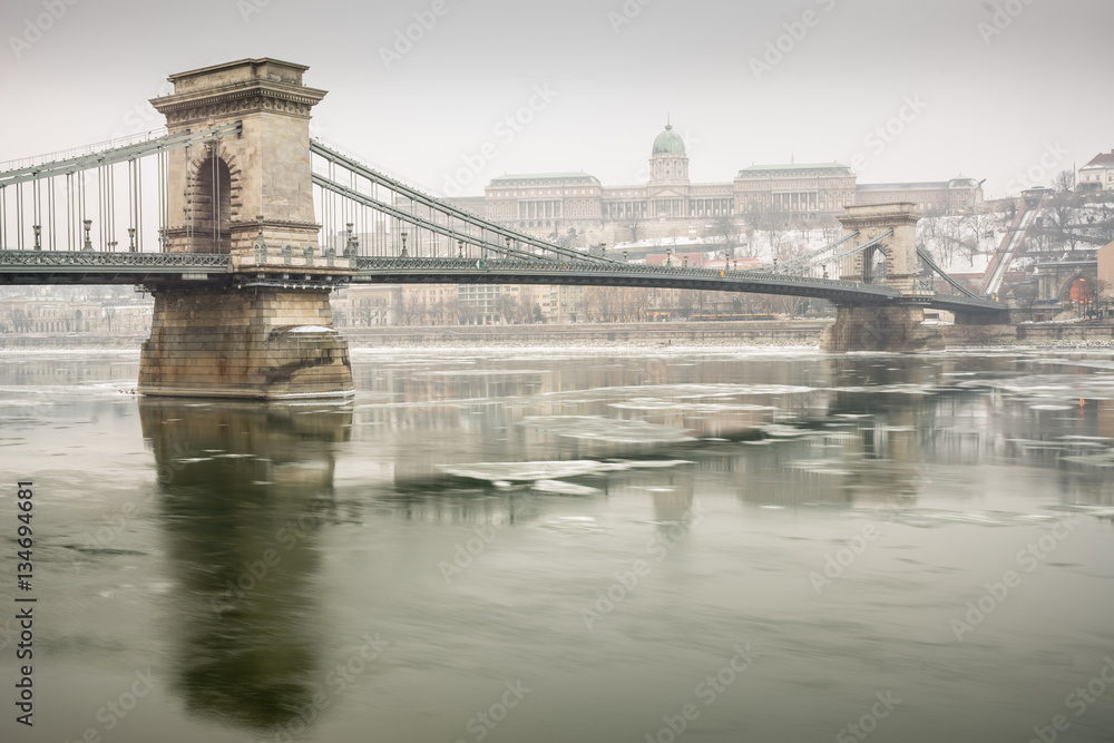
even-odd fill
[{"label": "long pale palace with green dome on the snowy hill", "polygon": [[909,201],[927,214],[959,214],[983,201],[980,184],[858,184],[839,163],[751,165],[721,183],[692,183],[681,135],[668,124],[654,139],[644,184],[605,186],[583,173],[494,178],[480,197],[449,199],[535,237],[575,247],[639,239],[710,237],[754,228],[834,226],[852,204]]}]

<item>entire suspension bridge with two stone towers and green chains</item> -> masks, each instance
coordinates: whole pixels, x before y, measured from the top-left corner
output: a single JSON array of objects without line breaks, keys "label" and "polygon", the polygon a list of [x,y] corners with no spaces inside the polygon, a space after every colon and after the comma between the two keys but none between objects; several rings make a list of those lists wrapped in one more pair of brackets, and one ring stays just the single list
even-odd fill
[{"label": "entire suspension bridge with two stone towers and green chains", "polygon": [[174,92],[150,101],[165,129],[0,166],[0,284],[141,287],[155,316],[140,392],[264,399],[351,391],[329,293],[353,283],[818,297],[838,307],[834,351],[911,348],[926,307],[1005,311],[916,248],[911,204],[849,207],[839,241],[776,270],[648,266],[539,239],[311,139],[325,91],[306,69],[263,58],[172,75]]}]

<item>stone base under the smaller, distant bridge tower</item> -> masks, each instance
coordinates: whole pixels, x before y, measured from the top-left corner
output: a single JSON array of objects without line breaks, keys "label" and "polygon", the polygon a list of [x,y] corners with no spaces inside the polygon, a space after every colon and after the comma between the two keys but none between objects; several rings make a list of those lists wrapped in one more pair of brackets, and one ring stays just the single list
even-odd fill
[{"label": "stone base under the smaller, distant bridge tower", "polygon": [[838,306],[820,350],[915,353],[941,348],[939,330],[922,325],[924,320],[925,311],[918,306]]}]

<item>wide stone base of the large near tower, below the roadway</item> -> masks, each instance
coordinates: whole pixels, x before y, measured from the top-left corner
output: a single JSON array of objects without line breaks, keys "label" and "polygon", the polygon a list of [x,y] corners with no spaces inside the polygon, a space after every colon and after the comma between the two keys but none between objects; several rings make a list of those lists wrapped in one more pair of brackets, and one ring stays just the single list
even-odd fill
[{"label": "wide stone base of the large near tower, below the roadway", "polygon": [[329,292],[159,290],[143,344],[139,392],[278,400],[352,393],[348,341]]}]

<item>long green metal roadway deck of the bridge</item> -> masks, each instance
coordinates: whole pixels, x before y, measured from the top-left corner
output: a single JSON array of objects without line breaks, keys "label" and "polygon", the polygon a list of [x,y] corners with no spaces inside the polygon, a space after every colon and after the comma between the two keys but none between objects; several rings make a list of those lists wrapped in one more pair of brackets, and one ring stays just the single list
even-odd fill
[{"label": "long green metal roadway deck of the bridge", "polygon": [[[317,271],[322,262],[316,263]],[[1006,310],[995,302],[962,295],[926,292],[910,296],[879,284],[756,271],[519,258],[358,257],[354,263],[354,273],[338,268],[335,274],[316,274],[312,281],[302,282],[297,266],[290,267],[289,278],[276,276],[273,272],[282,268],[282,264],[270,264],[265,274],[234,273],[231,257],[223,254],[0,251],[0,285],[141,284],[157,289],[160,284],[177,285],[183,281],[294,286],[300,283],[315,286],[348,283],[565,284],[780,294],[823,299],[842,305],[913,304],[961,312]]]}]

